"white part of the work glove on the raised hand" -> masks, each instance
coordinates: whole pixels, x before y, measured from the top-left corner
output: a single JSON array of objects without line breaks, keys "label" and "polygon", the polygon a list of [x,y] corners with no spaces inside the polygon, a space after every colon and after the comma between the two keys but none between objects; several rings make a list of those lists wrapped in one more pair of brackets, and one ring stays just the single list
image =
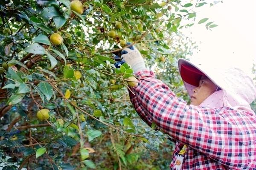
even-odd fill
[{"label": "white part of the work glove on the raised hand", "polygon": [[136,47],[130,46],[129,48],[124,48],[121,54],[121,59],[131,65],[134,73],[146,69],[143,57]]}]

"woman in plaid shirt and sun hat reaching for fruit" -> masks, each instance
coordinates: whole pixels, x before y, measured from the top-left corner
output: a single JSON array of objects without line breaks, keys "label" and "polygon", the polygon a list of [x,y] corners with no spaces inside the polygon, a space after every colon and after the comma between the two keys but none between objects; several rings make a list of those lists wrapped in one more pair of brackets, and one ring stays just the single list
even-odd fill
[{"label": "woman in plaid shirt and sun hat reaching for fruit", "polygon": [[140,79],[129,91],[135,110],[175,142],[171,170],[256,169],[256,87],[243,71],[179,59],[188,105],[145,67],[137,48],[124,48],[116,67],[124,62]]}]

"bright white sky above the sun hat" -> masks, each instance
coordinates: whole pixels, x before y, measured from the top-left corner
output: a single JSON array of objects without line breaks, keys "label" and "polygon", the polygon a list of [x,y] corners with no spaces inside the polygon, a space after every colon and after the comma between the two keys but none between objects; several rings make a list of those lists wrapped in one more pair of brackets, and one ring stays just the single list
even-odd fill
[{"label": "bright white sky above the sun hat", "polygon": [[[206,0],[212,2],[212,0]],[[188,36],[198,44],[198,54],[191,61],[236,66],[251,74],[256,63],[256,0],[223,0],[214,6],[197,8],[196,24]],[[209,18],[218,26],[212,31],[198,21]],[[190,34],[191,32],[191,34]]]}]

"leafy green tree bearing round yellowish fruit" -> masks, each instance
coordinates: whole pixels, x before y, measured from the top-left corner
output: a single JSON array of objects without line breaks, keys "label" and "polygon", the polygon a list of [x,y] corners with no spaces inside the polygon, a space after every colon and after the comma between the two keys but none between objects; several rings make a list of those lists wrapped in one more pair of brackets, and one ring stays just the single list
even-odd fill
[{"label": "leafy green tree bearing round yellowish fruit", "polygon": [[3,170],[168,169],[173,143],[137,116],[127,90],[137,84],[133,70],[115,68],[114,57],[136,44],[157,77],[187,99],[176,62],[195,45],[180,29],[204,4],[1,0]]}]

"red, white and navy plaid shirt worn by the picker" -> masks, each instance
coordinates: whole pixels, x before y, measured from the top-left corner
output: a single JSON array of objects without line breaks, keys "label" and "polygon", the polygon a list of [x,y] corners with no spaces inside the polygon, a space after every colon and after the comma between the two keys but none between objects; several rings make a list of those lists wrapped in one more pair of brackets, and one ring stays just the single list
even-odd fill
[{"label": "red, white and navy plaid shirt worn by the picker", "polygon": [[183,170],[256,170],[254,113],[187,105],[152,71],[139,71],[136,76],[140,83],[131,88],[135,95],[129,94],[137,113],[176,140],[171,169],[186,144]]}]

